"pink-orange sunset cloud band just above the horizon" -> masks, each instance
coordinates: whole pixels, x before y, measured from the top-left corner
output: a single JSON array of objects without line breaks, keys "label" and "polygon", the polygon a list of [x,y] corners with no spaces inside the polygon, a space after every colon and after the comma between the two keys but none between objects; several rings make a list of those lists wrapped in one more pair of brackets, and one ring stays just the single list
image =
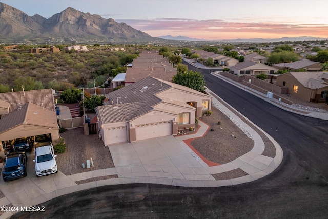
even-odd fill
[{"label": "pink-orange sunset cloud band just above the horizon", "polygon": [[[197,32],[203,35],[218,35],[219,33],[231,33],[232,38],[241,37],[241,33],[253,33],[256,35],[279,34],[282,36],[317,36],[327,37],[328,25],[322,24],[279,24],[272,22],[229,22],[224,20],[194,20],[194,19],[144,19],[144,20],[122,20],[135,29],[160,33],[183,33],[191,37]],[[198,34],[197,34],[198,35]],[[224,34],[227,35],[227,34]],[[261,36],[259,36],[261,37]]]}]

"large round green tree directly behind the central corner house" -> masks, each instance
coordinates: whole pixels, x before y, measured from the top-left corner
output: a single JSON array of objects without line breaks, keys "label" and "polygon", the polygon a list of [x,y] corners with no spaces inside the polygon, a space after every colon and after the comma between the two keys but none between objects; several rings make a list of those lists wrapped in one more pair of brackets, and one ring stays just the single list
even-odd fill
[{"label": "large round green tree directly behind the central corner house", "polygon": [[200,92],[204,91],[206,86],[204,76],[200,72],[192,70],[183,73],[178,72],[172,77],[172,82]]}]

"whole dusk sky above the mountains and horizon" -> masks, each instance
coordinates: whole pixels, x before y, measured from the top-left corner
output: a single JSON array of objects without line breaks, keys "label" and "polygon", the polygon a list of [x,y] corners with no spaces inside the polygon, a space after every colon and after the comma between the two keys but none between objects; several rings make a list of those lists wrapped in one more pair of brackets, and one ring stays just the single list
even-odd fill
[{"label": "whole dusk sky above the mountains and horizon", "polygon": [[125,22],[153,37],[328,38],[328,0],[0,0],[29,16],[68,7]]}]

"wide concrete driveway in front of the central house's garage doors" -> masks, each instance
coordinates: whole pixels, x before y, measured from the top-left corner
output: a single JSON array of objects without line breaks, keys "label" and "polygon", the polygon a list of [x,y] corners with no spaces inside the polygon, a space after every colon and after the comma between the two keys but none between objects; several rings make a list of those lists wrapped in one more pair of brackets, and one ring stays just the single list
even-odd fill
[{"label": "wide concrete driveway in front of the central house's garage doors", "polygon": [[165,177],[214,180],[208,167],[174,136],[109,146],[118,177]]}]

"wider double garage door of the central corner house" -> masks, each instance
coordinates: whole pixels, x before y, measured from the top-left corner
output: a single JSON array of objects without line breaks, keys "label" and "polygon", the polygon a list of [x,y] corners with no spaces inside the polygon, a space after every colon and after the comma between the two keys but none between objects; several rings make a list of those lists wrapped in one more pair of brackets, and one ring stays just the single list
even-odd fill
[{"label": "wider double garage door of the central corner house", "polygon": [[172,121],[142,124],[136,126],[136,140],[172,135]]}]

